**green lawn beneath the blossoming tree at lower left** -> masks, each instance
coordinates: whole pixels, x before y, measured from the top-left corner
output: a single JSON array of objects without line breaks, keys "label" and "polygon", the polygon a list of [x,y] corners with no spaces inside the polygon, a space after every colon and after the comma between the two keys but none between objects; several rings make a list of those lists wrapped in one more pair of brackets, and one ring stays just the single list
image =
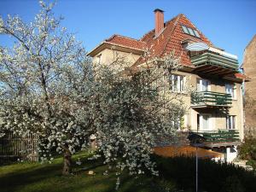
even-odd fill
[{"label": "green lawn beneath the blossoming tree at lower left", "polygon": [[[73,162],[78,157],[83,161],[81,166],[74,166],[73,175],[62,176],[62,159],[55,159],[53,164],[40,163],[15,163],[9,166],[0,166],[1,192],[107,192],[115,190],[116,177],[113,173],[108,176],[102,175],[106,170],[100,162],[89,162],[87,154],[73,156]],[[93,170],[94,176],[88,175]],[[119,191],[152,191],[153,178],[150,177],[122,177]],[[157,181],[157,188],[168,186],[172,183]],[[158,190],[155,190],[158,191]]]}]

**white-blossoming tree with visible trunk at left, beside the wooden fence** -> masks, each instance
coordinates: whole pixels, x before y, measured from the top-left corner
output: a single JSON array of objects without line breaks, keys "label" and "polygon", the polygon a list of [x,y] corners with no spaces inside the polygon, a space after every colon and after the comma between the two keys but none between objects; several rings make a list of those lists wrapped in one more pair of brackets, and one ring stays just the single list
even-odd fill
[{"label": "white-blossoming tree with visible trunk at left, beside the wooden fence", "polygon": [[82,44],[55,19],[54,4],[40,3],[31,24],[18,16],[0,20],[0,32],[15,38],[12,49],[0,48],[1,129],[37,133],[41,160],[55,149],[68,174],[71,155],[92,133],[92,71]]}]

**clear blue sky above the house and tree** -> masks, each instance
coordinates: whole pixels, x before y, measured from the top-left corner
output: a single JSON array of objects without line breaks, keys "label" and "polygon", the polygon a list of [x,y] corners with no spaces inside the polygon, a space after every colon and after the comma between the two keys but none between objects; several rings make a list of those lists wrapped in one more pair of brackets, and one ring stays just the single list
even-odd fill
[{"label": "clear blue sky above the house and tree", "polygon": [[[49,2],[46,0],[45,2]],[[64,16],[62,26],[93,49],[112,34],[141,38],[154,28],[153,10],[165,10],[165,20],[183,13],[212,43],[238,55],[256,34],[256,0],[57,0],[55,15]],[[37,0],[0,0],[0,15],[20,15],[32,21]],[[0,36],[1,45],[10,39]]]}]

